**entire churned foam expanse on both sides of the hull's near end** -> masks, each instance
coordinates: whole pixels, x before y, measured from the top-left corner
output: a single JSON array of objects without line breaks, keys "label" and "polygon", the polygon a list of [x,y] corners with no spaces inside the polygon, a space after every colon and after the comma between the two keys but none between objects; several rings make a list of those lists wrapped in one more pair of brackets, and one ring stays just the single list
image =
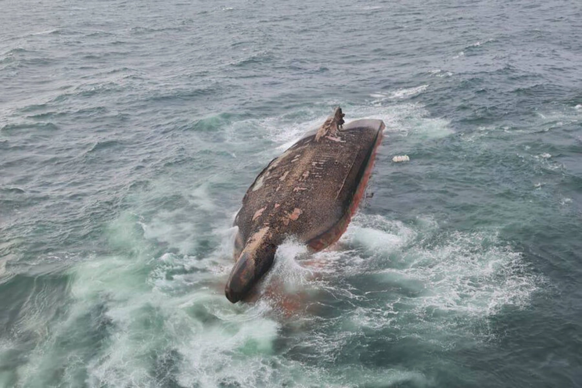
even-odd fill
[{"label": "entire churned foam expanse on both sides of the hull's near end", "polygon": [[[74,376],[83,371],[88,386],[153,387],[161,382],[154,373],[164,368],[180,386],[422,385],[424,375],[402,368],[352,373],[350,365],[316,365],[333,365],[365,330],[389,328],[396,338],[413,336],[422,346],[473,339],[474,322],[506,306],[527,308],[540,284],[522,255],[495,233],[441,233],[431,218],[403,223],[361,213],[335,250],[309,255],[292,240],[279,247],[265,284],[307,293],[304,305],[329,308],[322,295],[347,301],[333,308],[341,312],[333,318],[305,309],[285,318],[276,296],[252,304],[230,304],[224,297],[235,228],[217,230],[220,246],[205,257],[153,257],[147,237],[132,228],[135,222],[122,216],[110,227],[109,244],[125,254],[94,257],[70,269],[68,315],[19,367],[24,385],[59,368],[70,386],[78,385]],[[59,339],[95,335],[79,325],[86,316],[104,322],[100,347],[90,355],[74,346],[63,349]],[[296,361],[275,344],[302,349],[297,354],[316,361]]]}]

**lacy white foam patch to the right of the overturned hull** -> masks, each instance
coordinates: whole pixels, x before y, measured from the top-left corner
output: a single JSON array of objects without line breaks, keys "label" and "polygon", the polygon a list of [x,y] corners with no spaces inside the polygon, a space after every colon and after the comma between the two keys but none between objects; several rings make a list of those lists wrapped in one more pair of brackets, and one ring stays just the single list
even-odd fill
[{"label": "lacy white foam patch to the right of the overturned hull", "polygon": [[[390,329],[446,348],[492,339],[488,318],[507,307],[528,308],[545,284],[494,231],[443,233],[430,218],[410,226],[360,214],[338,247],[310,261],[320,280],[307,277],[303,284],[353,304],[343,314],[345,328]],[[363,290],[349,279],[358,279]]]}]

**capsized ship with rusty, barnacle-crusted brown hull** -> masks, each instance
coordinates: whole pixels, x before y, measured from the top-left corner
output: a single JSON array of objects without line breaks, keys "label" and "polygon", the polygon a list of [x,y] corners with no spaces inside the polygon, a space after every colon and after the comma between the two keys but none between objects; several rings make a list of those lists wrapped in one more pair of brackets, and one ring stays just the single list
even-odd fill
[{"label": "capsized ship with rusty, barnacle-crusted brown hull", "polygon": [[343,126],[342,109],[306,133],[261,171],[235,218],[236,263],[225,293],[243,300],[271,268],[277,247],[289,236],[320,251],[335,243],[364,195],[382,120]]}]

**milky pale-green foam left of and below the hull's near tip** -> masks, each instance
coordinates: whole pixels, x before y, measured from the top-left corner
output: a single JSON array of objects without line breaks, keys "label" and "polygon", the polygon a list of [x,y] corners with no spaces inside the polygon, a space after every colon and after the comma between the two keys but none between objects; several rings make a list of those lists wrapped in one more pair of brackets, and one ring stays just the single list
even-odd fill
[{"label": "milky pale-green foam left of and below the hull's near tip", "polygon": [[[230,239],[232,231],[225,231],[224,238]],[[164,254],[152,261],[144,252],[137,258],[109,257],[78,266],[72,284],[76,315],[102,301],[113,324],[104,352],[87,366],[90,385],[151,386],[148,354],[164,351],[179,354],[173,361],[178,363],[175,378],[184,386],[217,386],[225,380],[253,386],[260,381],[254,373],[260,376],[262,368],[253,368],[251,359],[260,362],[272,353],[279,323],[267,317],[268,304],[248,307],[226,301],[223,260]],[[166,274],[180,268],[191,270],[167,279]]]}]

